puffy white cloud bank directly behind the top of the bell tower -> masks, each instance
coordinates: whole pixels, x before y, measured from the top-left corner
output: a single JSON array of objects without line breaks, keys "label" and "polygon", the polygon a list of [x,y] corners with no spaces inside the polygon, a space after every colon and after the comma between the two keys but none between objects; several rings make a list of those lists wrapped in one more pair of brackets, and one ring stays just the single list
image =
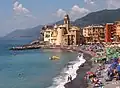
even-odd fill
[{"label": "puffy white cloud bank directly behind the top of the bell tower", "polygon": [[56,12],[56,16],[59,18],[63,18],[65,14],[69,14],[72,20],[83,17],[88,14],[90,11],[85,8],[80,8],[78,5],[74,5],[69,11],[65,11],[63,9],[58,9]]}]

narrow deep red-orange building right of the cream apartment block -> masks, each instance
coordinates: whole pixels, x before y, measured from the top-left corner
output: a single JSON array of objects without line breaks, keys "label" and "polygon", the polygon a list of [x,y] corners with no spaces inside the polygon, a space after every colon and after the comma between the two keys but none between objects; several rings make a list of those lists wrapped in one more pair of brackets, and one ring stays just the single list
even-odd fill
[{"label": "narrow deep red-orange building right of the cream apartment block", "polygon": [[105,26],[105,42],[113,42],[114,34],[115,34],[114,23],[107,23]]}]

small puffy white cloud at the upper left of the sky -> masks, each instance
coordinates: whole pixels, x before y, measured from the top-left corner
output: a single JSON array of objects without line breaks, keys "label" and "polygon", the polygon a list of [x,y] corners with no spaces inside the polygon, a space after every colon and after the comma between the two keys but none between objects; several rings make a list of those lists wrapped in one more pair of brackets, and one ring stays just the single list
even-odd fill
[{"label": "small puffy white cloud at the upper left of the sky", "polygon": [[30,11],[23,7],[23,5],[21,3],[19,3],[18,1],[16,1],[14,4],[13,4],[13,10],[15,12],[15,14],[27,14],[27,13],[30,13]]}]

